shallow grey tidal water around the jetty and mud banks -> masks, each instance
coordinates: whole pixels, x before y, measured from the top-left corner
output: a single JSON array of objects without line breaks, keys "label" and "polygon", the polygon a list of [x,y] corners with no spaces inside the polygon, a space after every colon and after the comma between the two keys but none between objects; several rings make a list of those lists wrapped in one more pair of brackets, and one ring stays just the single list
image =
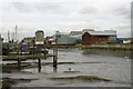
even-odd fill
[{"label": "shallow grey tidal water around the jetty and mud banks", "polygon": [[[51,51],[52,52],[52,51]],[[53,71],[52,58],[42,59],[41,72],[38,72],[37,60],[29,60],[34,67],[25,67],[20,71],[6,73],[12,79],[34,79],[30,82],[18,82],[16,87],[130,87],[131,59],[111,53],[90,53],[79,49],[60,49],[58,70]],[[23,62],[23,63],[24,63]],[[7,63],[7,62],[4,62]],[[57,79],[58,77],[95,76],[111,81],[85,81],[79,79]]]}]

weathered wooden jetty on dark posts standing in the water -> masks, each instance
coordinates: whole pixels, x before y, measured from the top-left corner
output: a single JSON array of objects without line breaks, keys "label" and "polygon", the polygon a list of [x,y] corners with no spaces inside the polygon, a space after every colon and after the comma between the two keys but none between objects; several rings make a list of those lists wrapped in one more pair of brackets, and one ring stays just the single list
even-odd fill
[{"label": "weathered wooden jetty on dark posts standing in the water", "polygon": [[9,56],[2,56],[3,61],[18,61],[18,68],[21,69],[21,61],[25,60],[38,60],[38,70],[39,72],[41,71],[41,60],[47,58],[53,58],[53,69],[57,71],[57,63],[58,63],[58,50],[53,49],[53,53],[48,53],[48,55],[9,55]]}]

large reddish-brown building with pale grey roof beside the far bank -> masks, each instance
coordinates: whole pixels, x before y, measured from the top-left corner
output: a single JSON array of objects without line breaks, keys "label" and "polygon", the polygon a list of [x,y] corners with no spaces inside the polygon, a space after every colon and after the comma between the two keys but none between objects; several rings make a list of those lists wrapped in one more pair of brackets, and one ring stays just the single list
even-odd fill
[{"label": "large reddish-brown building with pale grey roof beside the far bank", "polygon": [[116,41],[115,30],[94,31],[90,30],[83,33],[82,44],[108,43]]}]

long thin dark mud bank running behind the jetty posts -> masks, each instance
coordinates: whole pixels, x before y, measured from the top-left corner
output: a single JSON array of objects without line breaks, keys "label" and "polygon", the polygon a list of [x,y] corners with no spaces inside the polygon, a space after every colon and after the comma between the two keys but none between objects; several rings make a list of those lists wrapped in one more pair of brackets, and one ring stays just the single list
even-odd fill
[{"label": "long thin dark mud bank running behind the jetty posts", "polygon": [[[43,60],[43,59],[42,59]],[[108,63],[103,61],[90,61],[90,62],[58,62],[58,65],[83,65],[83,63]],[[53,62],[42,62],[41,66],[53,66]],[[22,62],[21,68],[18,67],[17,62],[2,65],[2,72],[11,73],[11,72],[21,72],[21,73],[32,73],[21,71],[22,69],[28,68],[38,68],[38,62]],[[72,71],[71,71],[72,72]]]}]

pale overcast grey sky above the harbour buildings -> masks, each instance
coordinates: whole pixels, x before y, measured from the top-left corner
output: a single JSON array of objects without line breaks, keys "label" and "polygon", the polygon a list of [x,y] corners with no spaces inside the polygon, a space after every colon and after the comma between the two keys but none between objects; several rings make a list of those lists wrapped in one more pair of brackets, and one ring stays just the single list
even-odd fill
[{"label": "pale overcast grey sky above the harbour buildings", "polygon": [[0,32],[18,26],[18,39],[33,37],[38,29],[45,37],[55,31],[83,29],[116,30],[117,37],[131,37],[132,0],[1,0]]}]

